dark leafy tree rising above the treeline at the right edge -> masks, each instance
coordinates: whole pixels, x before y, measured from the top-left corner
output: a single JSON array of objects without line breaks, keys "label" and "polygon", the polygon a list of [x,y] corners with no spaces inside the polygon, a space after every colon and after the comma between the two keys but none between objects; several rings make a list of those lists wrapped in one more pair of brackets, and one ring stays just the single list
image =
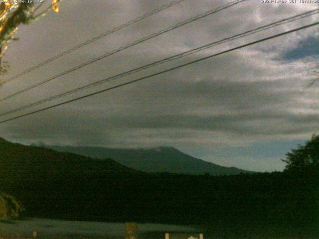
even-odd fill
[{"label": "dark leafy tree rising above the treeline at the right edge", "polygon": [[298,145],[297,149],[292,149],[286,153],[286,170],[318,170],[319,169],[319,135],[313,134],[311,140],[305,145]]}]

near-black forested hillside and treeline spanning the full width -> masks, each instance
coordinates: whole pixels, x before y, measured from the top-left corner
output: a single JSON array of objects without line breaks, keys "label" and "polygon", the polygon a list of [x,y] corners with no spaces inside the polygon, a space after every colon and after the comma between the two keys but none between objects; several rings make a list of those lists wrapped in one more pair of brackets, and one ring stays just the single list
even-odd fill
[{"label": "near-black forested hillside and treeline spanning the full width", "polygon": [[284,172],[190,176],[143,173],[111,159],[0,139],[0,189],[23,204],[25,217],[200,224],[316,238],[319,137],[310,141],[316,140],[288,154]]}]

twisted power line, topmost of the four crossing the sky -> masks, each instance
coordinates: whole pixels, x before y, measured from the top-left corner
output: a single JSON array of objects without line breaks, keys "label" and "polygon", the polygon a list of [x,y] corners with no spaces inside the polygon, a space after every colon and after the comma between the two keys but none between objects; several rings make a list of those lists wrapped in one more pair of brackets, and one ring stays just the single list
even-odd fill
[{"label": "twisted power line, topmost of the four crossing the sky", "polygon": [[124,23],[124,24],[122,24],[120,26],[117,26],[117,27],[115,27],[115,28],[113,28],[111,30],[108,30],[108,31],[106,31],[106,32],[104,32],[104,33],[102,33],[102,34],[100,34],[98,36],[95,36],[95,37],[93,37],[93,38],[91,38],[91,39],[89,39],[89,40],[87,40],[85,42],[82,42],[79,45],[76,45],[76,46],[74,46],[74,47],[72,47],[72,48],[70,48],[70,49],[68,49],[68,50],[56,55],[56,56],[53,56],[52,58],[49,58],[49,59],[47,59],[47,60],[45,60],[45,61],[43,61],[43,62],[41,62],[41,63],[39,63],[39,64],[37,64],[37,65],[35,65],[33,67],[30,67],[30,68],[28,68],[28,69],[26,69],[26,70],[24,70],[24,71],[22,71],[22,72],[20,72],[20,73],[18,73],[16,75],[14,75],[14,76],[2,81],[2,84],[5,84],[5,83],[7,83],[9,81],[12,81],[12,80],[20,77],[20,76],[23,76],[23,75],[25,75],[25,74],[27,74],[27,73],[29,73],[29,72],[41,67],[41,66],[44,66],[44,65],[46,65],[46,64],[48,64],[48,63],[50,63],[50,62],[62,57],[62,56],[65,56],[65,55],[67,55],[67,54],[69,54],[69,53],[71,53],[71,52],[73,52],[73,51],[75,51],[75,50],[77,50],[77,49],[79,49],[79,48],[81,48],[83,46],[86,46],[86,45],[88,45],[88,44],[90,44],[90,43],[92,43],[92,42],[94,42],[96,40],[101,39],[102,37],[105,37],[105,36],[107,36],[107,35],[109,35],[111,33],[119,31],[119,30],[121,30],[121,29],[123,29],[123,28],[125,28],[127,26],[130,26],[130,25],[132,25],[134,23],[137,23],[137,22],[139,22],[139,21],[141,21],[141,20],[143,20],[143,19],[145,19],[145,18],[147,18],[149,16],[152,16],[152,15],[154,15],[154,14],[156,14],[156,13],[158,13],[158,12],[168,8],[168,7],[171,7],[171,6],[177,4],[177,3],[181,2],[181,1],[184,1],[184,0],[173,0],[170,3],[168,3],[166,5],[163,5],[163,6],[157,8],[157,9],[151,11],[151,12],[148,12],[148,13],[146,13],[146,14],[144,14],[142,16],[139,16],[139,17],[137,17],[137,18],[135,18],[135,19],[133,19],[131,21],[128,21],[128,22],[126,22],[126,23]]}]

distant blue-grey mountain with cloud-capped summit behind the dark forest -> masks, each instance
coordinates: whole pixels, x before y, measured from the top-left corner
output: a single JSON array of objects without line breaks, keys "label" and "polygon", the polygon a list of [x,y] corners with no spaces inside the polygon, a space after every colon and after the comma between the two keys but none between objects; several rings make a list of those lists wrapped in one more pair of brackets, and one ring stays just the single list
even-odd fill
[{"label": "distant blue-grey mountain with cloud-capped summit behind the dark forest", "polygon": [[173,147],[118,149],[104,147],[47,146],[61,152],[72,152],[94,158],[112,158],[115,161],[144,172],[169,172],[200,175],[233,175],[253,173],[236,167],[210,163]]}]

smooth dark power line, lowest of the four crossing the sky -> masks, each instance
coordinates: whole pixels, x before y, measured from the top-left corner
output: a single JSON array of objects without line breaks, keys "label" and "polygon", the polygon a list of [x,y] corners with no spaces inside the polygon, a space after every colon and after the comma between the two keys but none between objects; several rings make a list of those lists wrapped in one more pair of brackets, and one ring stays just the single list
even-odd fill
[{"label": "smooth dark power line, lowest of the four crossing the sky", "polygon": [[151,78],[151,77],[166,73],[166,72],[170,72],[170,71],[179,69],[181,67],[188,66],[190,64],[194,64],[194,63],[206,60],[208,58],[212,58],[212,57],[215,57],[215,56],[218,56],[218,55],[222,55],[222,54],[225,54],[225,53],[228,53],[228,52],[240,49],[240,48],[244,48],[244,47],[247,47],[247,46],[250,46],[250,45],[254,45],[254,44],[262,42],[262,41],[270,40],[270,39],[273,39],[273,38],[276,38],[276,37],[279,37],[279,36],[283,36],[283,35],[286,35],[286,34],[289,34],[289,33],[295,32],[295,31],[299,31],[299,30],[302,30],[302,29],[305,29],[305,28],[308,28],[308,27],[312,27],[312,26],[315,26],[315,25],[318,25],[318,24],[319,24],[319,21],[315,22],[315,23],[312,23],[312,24],[309,24],[309,25],[306,25],[306,26],[295,28],[293,30],[289,30],[289,31],[285,31],[285,32],[282,32],[282,33],[279,33],[279,34],[276,34],[276,35],[272,35],[272,36],[269,36],[269,37],[266,37],[266,38],[263,38],[263,39],[260,39],[260,40],[257,40],[257,41],[253,41],[253,42],[241,45],[241,46],[237,46],[237,47],[234,47],[234,48],[231,48],[231,49],[228,49],[228,50],[225,50],[225,51],[213,54],[213,55],[209,55],[209,56],[206,56],[206,57],[203,57],[203,58],[200,58],[200,59],[197,59],[197,60],[182,64],[182,65],[170,68],[168,70],[160,71],[160,72],[155,73],[155,74],[151,74],[151,75],[148,75],[148,76],[145,76],[145,77],[141,77],[141,78],[133,80],[133,81],[129,81],[129,82],[117,85],[117,86],[113,86],[113,87],[110,87],[110,88],[107,88],[107,89],[104,89],[104,90],[101,90],[101,91],[97,91],[97,92],[94,92],[94,93],[91,93],[91,94],[88,94],[88,95],[85,95],[85,96],[81,96],[81,97],[78,97],[78,98],[75,98],[75,99],[72,99],[72,100],[69,100],[69,101],[62,102],[62,103],[59,103],[59,104],[56,104],[56,105],[53,105],[53,106],[42,108],[42,109],[37,110],[37,111],[26,113],[26,114],[23,114],[23,115],[20,115],[20,116],[16,116],[16,117],[13,117],[13,118],[10,118],[10,119],[5,119],[5,120],[0,121],[0,123],[11,121],[13,119],[19,119],[19,118],[22,118],[22,117],[25,117],[25,116],[29,116],[29,115],[38,113],[38,112],[42,112],[42,111],[45,111],[45,110],[48,110],[48,109],[52,109],[52,108],[55,108],[55,107],[58,107],[58,106],[62,106],[62,105],[65,105],[65,104],[68,104],[68,103],[71,103],[71,102],[74,102],[74,101],[78,101],[78,100],[81,100],[81,99],[84,99],[84,98],[87,98],[87,97],[91,97],[91,96],[94,96],[94,95],[97,95],[97,94],[101,94],[103,92],[110,91],[110,90],[113,90],[113,89],[116,89],[116,88],[119,88],[119,87],[122,87],[122,86],[126,86],[126,85],[129,85],[129,84],[132,84],[132,83],[135,83],[135,82],[147,79],[147,78]]}]

